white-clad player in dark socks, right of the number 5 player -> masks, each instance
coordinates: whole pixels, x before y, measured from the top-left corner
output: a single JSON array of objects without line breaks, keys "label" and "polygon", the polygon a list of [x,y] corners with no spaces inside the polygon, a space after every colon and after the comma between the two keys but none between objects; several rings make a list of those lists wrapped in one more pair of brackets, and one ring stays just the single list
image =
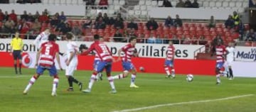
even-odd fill
[{"label": "white-clad player in dark socks, right of the number 5 player", "polygon": [[75,82],[75,84],[78,84],[80,91],[82,91],[82,83],[78,82],[78,80],[73,77],[74,71],[78,66],[78,55],[77,55],[79,51],[78,45],[74,41],[72,41],[72,39],[74,38],[72,33],[67,33],[66,38],[68,40],[68,44],[67,44],[68,60],[65,62],[67,65],[65,69],[65,76],[67,77],[68,84],[69,84],[69,88],[67,90],[74,91],[73,82]]}]

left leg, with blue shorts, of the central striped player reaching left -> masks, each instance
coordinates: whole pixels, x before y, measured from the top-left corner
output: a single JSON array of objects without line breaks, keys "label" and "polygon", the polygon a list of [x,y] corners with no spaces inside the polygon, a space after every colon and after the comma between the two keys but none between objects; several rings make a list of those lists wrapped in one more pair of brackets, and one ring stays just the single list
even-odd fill
[{"label": "left leg, with blue shorts, of the central striped player reaching left", "polygon": [[94,71],[92,72],[92,76],[90,78],[90,81],[89,81],[89,84],[88,84],[88,88],[85,89],[85,90],[82,90],[82,92],[90,93],[90,91],[92,89],[92,85],[96,81],[97,73],[102,72],[102,70],[105,68],[105,64],[106,64],[106,62],[102,62],[102,61],[100,61],[98,63],[97,68],[95,68]]}]

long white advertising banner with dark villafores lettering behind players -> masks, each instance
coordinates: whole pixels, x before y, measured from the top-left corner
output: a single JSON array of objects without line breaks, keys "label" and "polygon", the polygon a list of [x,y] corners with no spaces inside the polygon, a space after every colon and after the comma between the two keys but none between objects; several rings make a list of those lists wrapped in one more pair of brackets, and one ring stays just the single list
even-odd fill
[{"label": "long white advertising banner with dark villafores lettering behind players", "polygon": [[[0,42],[0,52],[6,52],[10,49],[11,39],[1,39]],[[37,49],[32,45],[33,40],[23,40],[24,52],[36,52]],[[66,41],[57,41],[60,46],[60,52],[65,52],[66,45],[68,42]],[[78,41],[78,46],[80,44],[85,44],[87,47],[90,47],[92,42],[81,42]],[[106,43],[114,56],[117,56],[117,51],[122,46],[127,43]],[[176,47],[175,56],[177,59],[194,59],[194,55],[197,52],[203,52],[206,50],[204,45],[174,45]],[[145,44],[145,43],[137,43],[136,48],[139,52],[139,57],[156,57],[156,58],[165,58],[166,50],[168,45],[163,44]]]}]

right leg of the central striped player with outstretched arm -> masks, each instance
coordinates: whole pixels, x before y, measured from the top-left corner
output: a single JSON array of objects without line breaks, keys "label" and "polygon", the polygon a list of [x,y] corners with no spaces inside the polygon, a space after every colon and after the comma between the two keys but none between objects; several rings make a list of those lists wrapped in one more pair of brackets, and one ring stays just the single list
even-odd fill
[{"label": "right leg of the central striped player with outstretched arm", "polygon": [[107,62],[107,65],[105,66],[105,69],[106,69],[107,79],[108,79],[108,81],[110,82],[110,86],[111,86],[111,91],[110,91],[110,93],[111,93],[111,94],[116,94],[116,93],[117,93],[117,90],[115,89],[115,86],[114,86],[114,79],[113,79],[113,77],[111,76],[111,72],[112,72],[112,62]]}]

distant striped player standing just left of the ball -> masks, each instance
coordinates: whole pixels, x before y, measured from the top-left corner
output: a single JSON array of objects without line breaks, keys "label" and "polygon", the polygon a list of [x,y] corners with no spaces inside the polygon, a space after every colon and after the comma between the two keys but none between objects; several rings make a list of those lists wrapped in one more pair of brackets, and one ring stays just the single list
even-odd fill
[{"label": "distant striped player standing just left of the ball", "polygon": [[[175,78],[175,69],[174,69],[174,56],[175,56],[175,47],[173,42],[169,40],[169,46],[166,51],[166,60],[164,62],[164,70],[166,71],[166,78]],[[171,73],[170,70],[171,69]]]}]

